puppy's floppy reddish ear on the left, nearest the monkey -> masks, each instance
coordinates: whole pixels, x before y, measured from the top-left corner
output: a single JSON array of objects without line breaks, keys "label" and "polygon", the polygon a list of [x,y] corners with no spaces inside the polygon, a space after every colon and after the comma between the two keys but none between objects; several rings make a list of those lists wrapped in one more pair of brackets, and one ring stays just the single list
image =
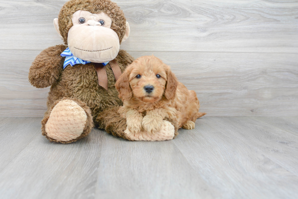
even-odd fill
[{"label": "puppy's floppy reddish ear on the left, nearest the monkey", "polygon": [[130,98],[133,96],[129,85],[129,75],[130,67],[128,66],[115,84],[115,87],[119,93],[118,97],[122,100],[130,100]]}]

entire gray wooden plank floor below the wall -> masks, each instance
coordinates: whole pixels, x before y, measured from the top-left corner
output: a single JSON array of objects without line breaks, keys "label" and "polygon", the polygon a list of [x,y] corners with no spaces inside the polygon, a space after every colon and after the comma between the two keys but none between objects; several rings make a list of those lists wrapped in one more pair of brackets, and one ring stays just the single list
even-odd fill
[{"label": "entire gray wooden plank floor below the wall", "polygon": [[0,118],[1,198],[298,198],[298,117],[203,117],[164,142],[48,142]]}]

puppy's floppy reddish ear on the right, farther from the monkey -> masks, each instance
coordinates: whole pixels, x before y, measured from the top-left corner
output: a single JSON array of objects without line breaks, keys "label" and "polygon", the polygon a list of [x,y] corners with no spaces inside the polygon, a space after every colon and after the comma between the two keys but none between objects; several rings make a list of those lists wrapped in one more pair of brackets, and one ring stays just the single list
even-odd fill
[{"label": "puppy's floppy reddish ear on the right, farther from the monkey", "polygon": [[167,84],[165,85],[165,97],[169,100],[175,98],[176,89],[178,86],[178,79],[174,73],[172,73],[170,67],[167,67]]}]

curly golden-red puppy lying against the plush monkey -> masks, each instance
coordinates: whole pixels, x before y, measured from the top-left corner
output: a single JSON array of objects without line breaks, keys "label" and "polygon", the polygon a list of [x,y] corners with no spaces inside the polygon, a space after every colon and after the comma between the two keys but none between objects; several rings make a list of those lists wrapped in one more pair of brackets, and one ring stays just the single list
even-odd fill
[{"label": "curly golden-red puppy lying against the plush monkey", "polygon": [[193,129],[196,119],[206,114],[199,112],[196,92],[187,90],[170,67],[154,56],[133,61],[115,86],[123,101],[119,113],[133,133],[159,132],[167,118],[180,128]]}]

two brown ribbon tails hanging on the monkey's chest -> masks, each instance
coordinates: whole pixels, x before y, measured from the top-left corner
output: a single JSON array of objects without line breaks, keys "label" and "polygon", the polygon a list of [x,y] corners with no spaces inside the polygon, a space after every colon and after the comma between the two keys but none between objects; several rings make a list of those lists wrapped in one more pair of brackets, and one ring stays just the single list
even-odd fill
[{"label": "two brown ribbon tails hanging on the monkey's chest", "polygon": [[[106,66],[102,65],[101,63],[94,63],[94,64],[95,64],[95,69],[97,72],[99,86],[108,90],[108,76],[106,74]],[[115,79],[117,81],[119,79],[120,75],[122,74],[120,67],[115,60],[110,61],[109,65],[111,66],[114,76],[115,76]]]}]

